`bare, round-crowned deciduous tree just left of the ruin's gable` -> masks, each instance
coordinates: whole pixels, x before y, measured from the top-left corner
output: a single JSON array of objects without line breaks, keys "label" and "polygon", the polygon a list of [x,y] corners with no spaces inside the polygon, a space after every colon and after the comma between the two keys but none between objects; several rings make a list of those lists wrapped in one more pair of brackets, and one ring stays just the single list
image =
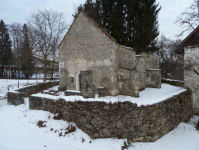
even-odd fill
[{"label": "bare, round-crowned deciduous tree just left of the ruin's gable", "polygon": [[63,13],[52,9],[37,10],[27,18],[28,25],[32,29],[34,55],[43,63],[44,81],[46,81],[48,63],[58,51],[58,45],[67,29],[63,19]]}]

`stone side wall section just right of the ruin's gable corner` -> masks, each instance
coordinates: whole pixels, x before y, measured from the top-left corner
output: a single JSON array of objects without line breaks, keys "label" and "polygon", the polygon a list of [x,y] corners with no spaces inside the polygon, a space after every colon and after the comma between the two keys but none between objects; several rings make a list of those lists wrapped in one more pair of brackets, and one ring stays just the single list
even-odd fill
[{"label": "stone side wall section just right of the ruin's gable corner", "polygon": [[139,97],[139,76],[135,51],[132,48],[119,45],[116,56],[119,94]]}]

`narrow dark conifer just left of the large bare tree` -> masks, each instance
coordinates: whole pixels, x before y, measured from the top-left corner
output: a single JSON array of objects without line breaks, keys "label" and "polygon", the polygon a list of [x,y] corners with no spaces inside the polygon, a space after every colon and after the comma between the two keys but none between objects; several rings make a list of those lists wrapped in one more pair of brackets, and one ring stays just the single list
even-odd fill
[{"label": "narrow dark conifer just left of the large bare tree", "polygon": [[22,29],[22,43],[20,49],[20,64],[21,71],[26,79],[32,76],[34,71],[34,62],[32,48],[30,46],[30,40],[28,35],[28,27],[24,24]]}]

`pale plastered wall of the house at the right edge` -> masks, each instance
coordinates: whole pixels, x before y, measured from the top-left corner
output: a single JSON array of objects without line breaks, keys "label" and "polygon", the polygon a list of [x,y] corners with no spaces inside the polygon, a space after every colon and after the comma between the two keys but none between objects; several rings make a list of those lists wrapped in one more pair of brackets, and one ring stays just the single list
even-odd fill
[{"label": "pale plastered wall of the house at the right edge", "polygon": [[[184,51],[184,87],[192,90],[193,112],[199,115],[199,75],[190,71],[194,67],[199,72],[199,48],[185,47]],[[194,65],[195,64],[195,65]]]}]

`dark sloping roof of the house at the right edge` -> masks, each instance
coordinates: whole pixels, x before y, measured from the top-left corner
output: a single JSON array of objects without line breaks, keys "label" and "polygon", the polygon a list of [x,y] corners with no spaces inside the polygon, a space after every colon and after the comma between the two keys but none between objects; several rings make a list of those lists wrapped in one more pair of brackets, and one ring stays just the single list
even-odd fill
[{"label": "dark sloping roof of the house at the right edge", "polygon": [[184,47],[189,45],[189,42],[192,38],[194,38],[194,36],[196,35],[196,33],[199,33],[199,26],[197,28],[195,28],[176,48],[175,48],[175,52],[177,53],[184,53]]}]

